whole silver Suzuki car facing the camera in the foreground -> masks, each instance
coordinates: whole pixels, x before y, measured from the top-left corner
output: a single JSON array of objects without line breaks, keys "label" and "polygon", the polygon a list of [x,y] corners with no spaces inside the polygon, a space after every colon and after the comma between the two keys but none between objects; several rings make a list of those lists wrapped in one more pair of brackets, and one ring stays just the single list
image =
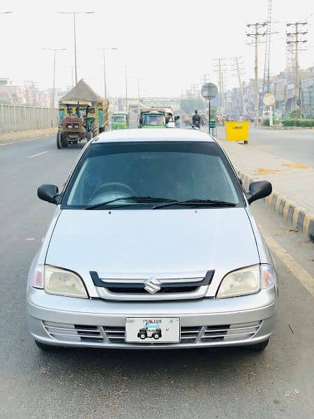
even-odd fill
[{"label": "whole silver Suzuki car facing the camera in the foreground", "polygon": [[38,188],[57,209],[27,281],[37,346],[261,351],[278,288],[249,205],[269,193],[206,133],[100,134]]}]

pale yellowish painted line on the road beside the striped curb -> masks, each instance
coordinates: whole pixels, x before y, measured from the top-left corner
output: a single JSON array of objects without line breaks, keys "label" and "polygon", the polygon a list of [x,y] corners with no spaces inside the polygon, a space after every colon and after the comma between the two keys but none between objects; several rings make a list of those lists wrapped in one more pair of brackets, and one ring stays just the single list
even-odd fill
[{"label": "pale yellowish painted line on the road beside the striped curb", "polygon": [[309,293],[314,295],[314,278],[303,268],[301,265],[292,258],[290,253],[288,253],[281,245],[270,236],[264,236],[267,244],[271,251],[273,251],[279,259],[284,263],[288,270],[294,274],[301,284],[308,290]]}]

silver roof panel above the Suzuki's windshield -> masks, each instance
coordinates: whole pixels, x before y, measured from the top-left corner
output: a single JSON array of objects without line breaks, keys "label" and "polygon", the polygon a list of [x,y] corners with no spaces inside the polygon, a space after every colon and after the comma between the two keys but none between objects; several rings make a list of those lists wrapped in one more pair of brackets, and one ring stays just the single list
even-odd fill
[{"label": "silver roof panel above the Suzuki's windshield", "polygon": [[215,142],[207,133],[197,129],[156,128],[156,129],[121,129],[106,131],[97,135],[93,142],[134,142],[134,141],[195,141]]}]

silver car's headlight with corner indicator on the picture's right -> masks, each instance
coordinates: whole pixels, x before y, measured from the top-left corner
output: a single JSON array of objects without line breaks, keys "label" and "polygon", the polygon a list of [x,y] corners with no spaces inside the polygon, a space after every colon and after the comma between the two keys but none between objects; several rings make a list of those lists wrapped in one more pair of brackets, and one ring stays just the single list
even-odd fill
[{"label": "silver car's headlight with corner indicator on the picture's right", "polygon": [[227,274],[221,282],[216,298],[254,294],[261,288],[271,288],[276,281],[274,269],[267,264],[244,267]]}]

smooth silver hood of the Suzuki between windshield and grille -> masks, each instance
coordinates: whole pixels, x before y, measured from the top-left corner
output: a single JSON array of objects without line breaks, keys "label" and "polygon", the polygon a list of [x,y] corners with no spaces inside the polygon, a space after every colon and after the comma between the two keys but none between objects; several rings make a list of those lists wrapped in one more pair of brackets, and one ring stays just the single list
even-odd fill
[{"label": "smooth silver hood of the Suzuki between windshield and grille", "polygon": [[260,263],[245,208],[62,210],[45,263],[110,277],[199,277]]}]

